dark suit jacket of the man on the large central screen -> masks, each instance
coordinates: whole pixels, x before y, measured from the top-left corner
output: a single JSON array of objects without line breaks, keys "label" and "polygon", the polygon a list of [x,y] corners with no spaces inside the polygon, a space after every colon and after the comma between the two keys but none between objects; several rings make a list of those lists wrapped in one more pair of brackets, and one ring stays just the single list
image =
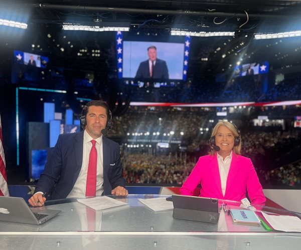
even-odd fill
[{"label": "dark suit jacket of the man on the large central screen", "polygon": [[140,62],[135,78],[156,78],[156,79],[168,79],[168,68],[165,60],[156,59],[156,64],[153,68],[153,76],[150,77],[149,74],[149,64],[148,59],[146,61]]}]

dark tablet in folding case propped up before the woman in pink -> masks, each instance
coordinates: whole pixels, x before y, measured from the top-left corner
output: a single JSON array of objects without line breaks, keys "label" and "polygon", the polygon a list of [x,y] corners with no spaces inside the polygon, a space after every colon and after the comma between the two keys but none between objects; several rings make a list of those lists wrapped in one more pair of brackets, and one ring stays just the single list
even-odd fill
[{"label": "dark tablet in folding case propped up before the woman in pink", "polygon": [[206,197],[173,194],[173,217],[202,222],[217,223],[218,200]]}]

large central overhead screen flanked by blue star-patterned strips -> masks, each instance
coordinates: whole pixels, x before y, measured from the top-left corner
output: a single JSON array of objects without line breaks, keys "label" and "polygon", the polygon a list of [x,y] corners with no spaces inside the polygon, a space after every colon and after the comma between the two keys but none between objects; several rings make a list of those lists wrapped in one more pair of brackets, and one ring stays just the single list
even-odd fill
[{"label": "large central overhead screen flanked by blue star-patterned strips", "polygon": [[182,42],[123,40],[116,35],[119,79],[186,80],[190,37]]}]

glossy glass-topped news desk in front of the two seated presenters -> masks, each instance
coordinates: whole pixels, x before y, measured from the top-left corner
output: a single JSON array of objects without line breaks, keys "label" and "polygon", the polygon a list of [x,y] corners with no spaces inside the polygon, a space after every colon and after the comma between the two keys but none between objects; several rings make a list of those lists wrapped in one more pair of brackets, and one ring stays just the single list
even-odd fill
[{"label": "glossy glass-topped news desk in front of the two seated presenters", "polygon": [[[130,194],[120,199],[128,205],[97,210],[93,218],[76,198],[47,201],[48,208],[62,211],[44,224],[0,221],[0,249],[290,250],[301,247],[301,233],[266,231],[262,225],[237,225],[223,210],[218,223],[213,224],[174,219],[172,210],[154,212],[137,200],[167,196]],[[239,207],[238,202],[225,202],[231,208]],[[267,206],[259,209],[288,213]]]}]

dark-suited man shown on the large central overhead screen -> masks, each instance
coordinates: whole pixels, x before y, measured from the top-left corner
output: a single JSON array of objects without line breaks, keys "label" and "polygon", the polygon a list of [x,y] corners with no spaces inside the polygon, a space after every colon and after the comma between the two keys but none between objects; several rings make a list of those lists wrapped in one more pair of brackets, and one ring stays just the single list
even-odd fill
[{"label": "dark-suited man shown on the large central overhead screen", "polygon": [[147,48],[148,60],[140,62],[135,78],[168,79],[168,68],[165,60],[157,58],[156,46]]}]

